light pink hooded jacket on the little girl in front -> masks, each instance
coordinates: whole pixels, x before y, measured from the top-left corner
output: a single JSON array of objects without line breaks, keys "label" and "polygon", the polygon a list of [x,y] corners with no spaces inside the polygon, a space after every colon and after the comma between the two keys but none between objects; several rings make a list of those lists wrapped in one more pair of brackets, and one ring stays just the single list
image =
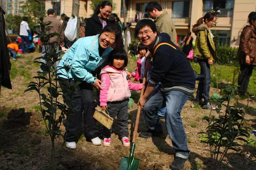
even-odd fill
[{"label": "light pink hooded jacket on the little girl in front", "polygon": [[113,66],[107,65],[100,72],[101,87],[100,106],[107,106],[107,102],[123,101],[131,97],[131,90],[142,89],[142,83],[132,83],[128,79],[125,70],[117,70]]}]

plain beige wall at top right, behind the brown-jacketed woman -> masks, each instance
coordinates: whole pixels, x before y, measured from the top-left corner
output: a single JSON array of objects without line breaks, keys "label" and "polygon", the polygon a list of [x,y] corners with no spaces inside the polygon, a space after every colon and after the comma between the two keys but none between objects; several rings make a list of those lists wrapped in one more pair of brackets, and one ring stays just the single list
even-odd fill
[{"label": "plain beige wall at top right, behind the brown-jacketed woman", "polygon": [[248,15],[255,11],[256,0],[235,0],[234,3],[234,17],[232,22],[232,30],[230,37],[230,46],[238,47],[240,42],[241,32],[246,26]]}]

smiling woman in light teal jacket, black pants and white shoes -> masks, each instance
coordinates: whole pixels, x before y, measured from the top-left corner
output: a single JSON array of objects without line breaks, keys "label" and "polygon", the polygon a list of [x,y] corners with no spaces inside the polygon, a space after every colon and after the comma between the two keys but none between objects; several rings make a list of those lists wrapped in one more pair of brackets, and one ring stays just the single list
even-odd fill
[{"label": "smiling woman in light teal jacket, black pants and white shoes", "polygon": [[[72,113],[69,115],[68,126],[66,126],[66,147],[76,149],[78,130],[84,112],[84,126],[86,137],[92,140],[92,144],[100,145],[99,131],[96,120],[92,117],[97,106],[94,101],[92,86],[98,90],[102,89],[101,81],[92,76],[92,71],[108,61],[108,54],[113,45],[119,46],[121,33],[115,26],[105,26],[100,34],[78,39],[60,60],[58,75],[61,78],[60,87],[64,100],[72,97]],[[66,71],[66,66],[70,70]],[[72,81],[69,83],[69,80]],[[67,87],[75,85],[75,92],[69,94]],[[68,102],[67,102],[68,103]],[[67,129],[68,127],[68,129]]]}]

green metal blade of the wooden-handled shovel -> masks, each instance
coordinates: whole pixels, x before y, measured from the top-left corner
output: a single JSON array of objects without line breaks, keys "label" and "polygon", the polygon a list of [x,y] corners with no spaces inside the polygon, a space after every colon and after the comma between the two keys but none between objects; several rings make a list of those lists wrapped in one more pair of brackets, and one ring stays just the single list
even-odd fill
[{"label": "green metal blade of the wooden-handled shovel", "polygon": [[138,169],[140,159],[136,159],[133,157],[134,149],[135,149],[135,143],[132,142],[132,146],[130,149],[130,156],[122,157],[119,170],[137,170]]}]

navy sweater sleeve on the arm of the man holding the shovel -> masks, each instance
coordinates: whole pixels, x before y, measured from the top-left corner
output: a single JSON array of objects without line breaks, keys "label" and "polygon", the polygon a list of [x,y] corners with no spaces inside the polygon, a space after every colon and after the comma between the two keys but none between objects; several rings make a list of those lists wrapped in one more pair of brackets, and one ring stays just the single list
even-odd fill
[{"label": "navy sweater sleeve on the arm of the man holding the shovel", "polygon": [[170,56],[165,54],[155,53],[153,56],[153,68],[150,72],[148,84],[155,87],[168,74],[172,61]]}]

